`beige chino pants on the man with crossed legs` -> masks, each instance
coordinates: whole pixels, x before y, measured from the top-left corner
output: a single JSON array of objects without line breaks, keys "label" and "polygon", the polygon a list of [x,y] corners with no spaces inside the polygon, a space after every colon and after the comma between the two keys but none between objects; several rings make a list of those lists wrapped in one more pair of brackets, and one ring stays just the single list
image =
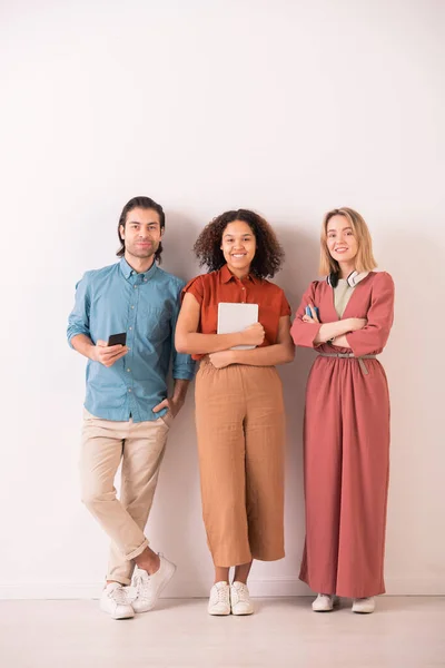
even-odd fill
[{"label": "beige chino pants on the man with crossed legs", "polygon": [[[83,411],[80,478],[82,501],[111,539],[107,580],[131,582],[134,559],[146,547],[151,509],[171,418],[113,422]],[[121,491],[115,478],[120,462]]]}]

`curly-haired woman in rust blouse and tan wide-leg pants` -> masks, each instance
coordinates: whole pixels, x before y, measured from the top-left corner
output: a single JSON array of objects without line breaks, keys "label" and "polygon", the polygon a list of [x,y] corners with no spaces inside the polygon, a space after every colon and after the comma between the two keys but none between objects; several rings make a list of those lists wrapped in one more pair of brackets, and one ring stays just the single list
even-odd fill
[{"label": "curly-haired woman in rust blouse and tan wide-leg pants", "polygon": [[[294,344],[289,304],[266,279],[280,268],[284,253],[269,224],[247,209],[216,217],[194,249],[208,273],[184,288],[176,347],[200,360],[196,429],[202,517],[215,564],[208,612],[251,615],[253,559],[284,557],[285,412],[275,365],[291,362]],[[217,334],[220,302],[258,304],[259,322]]]}]

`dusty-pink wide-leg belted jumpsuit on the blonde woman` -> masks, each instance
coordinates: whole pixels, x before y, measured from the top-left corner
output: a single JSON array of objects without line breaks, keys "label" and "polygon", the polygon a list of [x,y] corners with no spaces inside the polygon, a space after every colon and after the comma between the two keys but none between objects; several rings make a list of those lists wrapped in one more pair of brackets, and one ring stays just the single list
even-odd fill
[{"label": "dusty-pink wide-leg belted jumpsuit on the blonde woman", "polygon": [[[393,324],[394,283],[370,272],[343,318],[367,318],[347,334],[349,348],[314,344],[320,325],[303,322],[318,306],[320,323],[338,321],[334,289],[315,281],[297,311],[296,345],[319,353],[382,352]],[[383,566],[389,472],[389,394],[377,360],[318,356],[306,389],[304,426],[306,542],[300,579],[314,591],[364,598],[385,591]]]}]

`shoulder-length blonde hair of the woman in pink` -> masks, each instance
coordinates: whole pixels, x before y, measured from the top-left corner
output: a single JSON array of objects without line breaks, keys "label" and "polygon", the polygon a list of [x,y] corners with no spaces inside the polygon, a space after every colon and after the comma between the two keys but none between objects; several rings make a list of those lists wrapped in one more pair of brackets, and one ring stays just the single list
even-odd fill
[{"label": "shoulder-length blonde hair of the woman in pink", "polygon": [[344,216],[353,228],[355,238],[357,239],[357,256],[355,258],[355,268],[358,273],[372,272],[377,266],[377,263],[373,255],[373,240],[370,238],[368,226],[362,218],[360,214],[357,214],[354,209],[346,206],[339,209],[333,209],[328,212],[323,220],[322,227],[322,247],[320,247],[320,264],[319,273],[322,276],[328,276],[329,274],[336,274],[340,267],[338,262],[332,257],[327,247],[327,224],[333,216]]}]

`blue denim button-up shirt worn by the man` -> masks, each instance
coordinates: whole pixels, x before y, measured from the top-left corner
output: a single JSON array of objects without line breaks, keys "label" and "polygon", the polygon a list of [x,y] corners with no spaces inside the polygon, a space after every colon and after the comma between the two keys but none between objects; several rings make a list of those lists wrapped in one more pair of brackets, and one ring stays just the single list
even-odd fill
[{"label": "blue denim button-up shirt worn by the man", "polygon": [[127,332],[128,354],[112,366],[88,361],[87,411],[103,420],[154,421],[167,410],[152,409],[167,397],[167,375],[172,357],[174,379],[190,381],[195,364],[175,350],[175,326],[184,282],[156,263],[145,274],[126,259],[87,272],[76,286],[69,316],[68,341],[86,334],[96,343]]}]

